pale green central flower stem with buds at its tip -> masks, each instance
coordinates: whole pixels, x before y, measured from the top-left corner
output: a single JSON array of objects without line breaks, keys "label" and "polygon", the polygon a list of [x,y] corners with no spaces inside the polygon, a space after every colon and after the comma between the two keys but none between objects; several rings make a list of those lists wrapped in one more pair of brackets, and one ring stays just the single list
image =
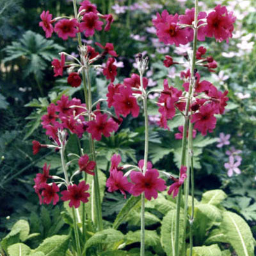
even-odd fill
[{"label": "pale green central flower stem with buds at its tip", "polygon": [[[140,72],[140,84],[141,92],[143,95],[143,109],[145,117],[145,151],[144,151],[144,166],[143,174],[147,171],[148,163],[148,109],[147,109],[147,93],[143,87],[143,73]],[[141,244],[140,244],[140,256],[145,256],[145,193],[141,194]]]}]

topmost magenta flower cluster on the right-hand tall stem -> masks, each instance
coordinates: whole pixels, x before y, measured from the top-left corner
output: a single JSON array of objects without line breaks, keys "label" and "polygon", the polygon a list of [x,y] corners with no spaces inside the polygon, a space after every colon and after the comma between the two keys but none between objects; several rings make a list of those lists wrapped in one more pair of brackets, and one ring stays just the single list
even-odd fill
[{"label": "topmost magenta flower cluster on the right-hand tall stem", "polygon": [[[157,18],[152,20],[157,29],[157,36],[164,44],[188,44],[193,40],[194,30],[191,28],[195,19],[195,8],[187,9],[184,15],[171,15],[164,10],[161,15],[157,13]],[[205,36],[215,37],[218,42],[232,37],[234,22],[236,17],[233,13],[228,13],[225,6],[218,4],[214,11],[208,15],[205,12],[198,13],[198,34],[197,39],[204,41]],[[184,28],[182,28],[182,26]],[[187,25],[187,26],[185,26]]]}]

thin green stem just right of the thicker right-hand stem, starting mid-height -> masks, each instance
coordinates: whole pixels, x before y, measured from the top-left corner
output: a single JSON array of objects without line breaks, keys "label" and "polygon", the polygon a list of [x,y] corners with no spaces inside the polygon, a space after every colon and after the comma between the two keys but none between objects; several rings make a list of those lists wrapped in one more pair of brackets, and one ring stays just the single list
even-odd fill
[{"label": "thin green stem just right of the thicker right-hand stem, starting mid-height", "polygon": [[193,161],[193,124],[189,124],[189,138],[188,142],[190,154],[190,166],[191,166],[191,196],[192,196],[192,205],[191,205],[191,216],[189,219],[189,256],[192,256],[193,252],[193,222],[194,222],[194,212],[195,212],[195,183],[194,183],[194,161]]}]

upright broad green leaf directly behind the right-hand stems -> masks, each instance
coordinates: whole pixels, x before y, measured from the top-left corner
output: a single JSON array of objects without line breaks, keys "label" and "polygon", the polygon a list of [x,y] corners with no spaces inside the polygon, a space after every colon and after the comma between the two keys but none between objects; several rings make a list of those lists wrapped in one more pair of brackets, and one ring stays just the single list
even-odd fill
[{"label": "upright broad green leaf directly behind the right-hand stems", "polygon": [[[161,244],[167,256],[175,255],[175,223],[176,223],[176,210],[169,211],[164,216],[161,225]],[[182,238],[184,234],[184,214],[180,212],[180,228],[179,228],[179,247],[182,245]]]}]

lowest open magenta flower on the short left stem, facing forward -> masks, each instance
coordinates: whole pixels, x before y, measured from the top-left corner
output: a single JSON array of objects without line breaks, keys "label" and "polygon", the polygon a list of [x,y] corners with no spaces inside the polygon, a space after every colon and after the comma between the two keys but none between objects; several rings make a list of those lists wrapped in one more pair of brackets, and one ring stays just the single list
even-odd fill
[{"label": "lowest open magenta flower on the short left stem, facing forward", "polygon": [[69,207],[72,207],[74,205],[75,208],[78,208],[80,206],[81,201],[83,203],[87,203],[88,197],[90,196],[90,193],[87,193],[89,189],[89,184],[85,184],[85,181],[81,181],[78,186],[76,184],[69,185],[68,190],[64,190],[61,192],[61,200],[68,201]]}]

